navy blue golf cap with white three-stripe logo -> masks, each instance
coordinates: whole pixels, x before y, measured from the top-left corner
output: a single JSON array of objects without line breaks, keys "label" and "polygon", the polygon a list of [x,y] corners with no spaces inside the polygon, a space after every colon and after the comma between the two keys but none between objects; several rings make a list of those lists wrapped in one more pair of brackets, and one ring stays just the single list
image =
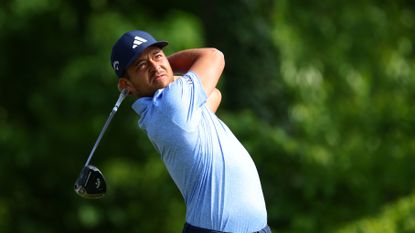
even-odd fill
[{"label": "navy blue golf cap with white three-stripe logo", "polygon": [[112,47],[111,66],[118,77],[150,46],[163,48],[167,41],[157,41],[145,31],[134,30],[124,33]]}]

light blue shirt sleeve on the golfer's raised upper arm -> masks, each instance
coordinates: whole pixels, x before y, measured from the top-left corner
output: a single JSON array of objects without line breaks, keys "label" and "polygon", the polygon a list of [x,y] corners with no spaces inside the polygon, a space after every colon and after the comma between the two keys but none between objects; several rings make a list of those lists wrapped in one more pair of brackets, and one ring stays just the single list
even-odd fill
[{"label": "light blue shirt sleeve on the golfer's raised upper arm", "polygon": [[191,71],[171,83],[164,90],[163,111],[184,129],[197,126],[205,107],[207,95],[197,75]]}]

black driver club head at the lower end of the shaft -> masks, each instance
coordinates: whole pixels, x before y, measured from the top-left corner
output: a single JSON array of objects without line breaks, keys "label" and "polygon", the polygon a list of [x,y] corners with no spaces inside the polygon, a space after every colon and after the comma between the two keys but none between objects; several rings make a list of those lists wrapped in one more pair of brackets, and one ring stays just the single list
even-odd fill
[{"label": "black driver club head at the lower end of the shaft", "polygon": [[75,192],[83,198],[101,198],[107,191],[102,172],[93,165],[82,168],[75,182]]}]

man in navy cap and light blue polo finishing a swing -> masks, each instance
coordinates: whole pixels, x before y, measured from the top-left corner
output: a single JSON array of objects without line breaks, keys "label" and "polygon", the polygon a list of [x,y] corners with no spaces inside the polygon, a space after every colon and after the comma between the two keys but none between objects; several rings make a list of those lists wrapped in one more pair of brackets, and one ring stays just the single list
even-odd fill
[{"label": "man in navy cap and light blue polo finishing a swing", "polygon": [[126,32],[112,48],[111,65],[118,88],[137,99],[138,125],[183,195],[183,233],[271,232],[255,164],[215,115],[222,52],[196,48],[166,56],[166,45],[144,31]]}]

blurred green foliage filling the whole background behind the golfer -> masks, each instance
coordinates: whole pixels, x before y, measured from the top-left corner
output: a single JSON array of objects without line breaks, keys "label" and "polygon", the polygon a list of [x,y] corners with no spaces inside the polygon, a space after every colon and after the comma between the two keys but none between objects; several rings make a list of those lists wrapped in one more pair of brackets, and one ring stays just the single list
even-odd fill
[{"label": "blurred green foliage filling the whole background behind the golfer", "polygon": [[113,42],[225,53],[218,115],[250,151],[274,232],[415,232],[415,5],[394,1],[5,0],[0,7],[0,232],[181,232],[185,207],[127,99]]}]

